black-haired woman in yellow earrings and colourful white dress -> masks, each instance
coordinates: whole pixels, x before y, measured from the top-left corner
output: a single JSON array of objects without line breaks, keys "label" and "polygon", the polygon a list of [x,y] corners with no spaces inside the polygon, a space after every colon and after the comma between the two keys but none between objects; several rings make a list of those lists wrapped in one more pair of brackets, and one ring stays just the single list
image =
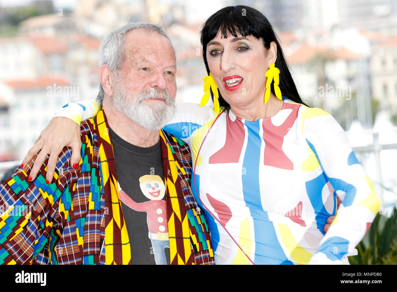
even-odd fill
[{"label": "black-haired woman in yellow earrings and colourful white dress", "polygon": [[[347,263],[380,201],[343,129],[301,100],[276,33],[257,10],[219,10],[204,23],[201,43],[206,93],[200,107],[178,104],[164,130],[191,149],[191,185],[216,263]],[[214,106],[205,105],[210,93]],[[69,117],[71,106],[56,116]],[[341,207],[325,234],[337,197]]]}]

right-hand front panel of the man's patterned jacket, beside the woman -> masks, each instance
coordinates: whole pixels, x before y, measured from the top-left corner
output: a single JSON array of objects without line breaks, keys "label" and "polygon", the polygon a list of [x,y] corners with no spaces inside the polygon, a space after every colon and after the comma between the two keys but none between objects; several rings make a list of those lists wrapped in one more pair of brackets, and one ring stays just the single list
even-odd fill
[{"label": "right-hand front panel of the man's patterned jacket, beside the woman", "polygon": [[160,131],[160,139],[160,143],[169,146],[161,147],[161,155],[171,264],[214,263],[208,226],[190,187],[192,168],[189,148],[165,131]]}]

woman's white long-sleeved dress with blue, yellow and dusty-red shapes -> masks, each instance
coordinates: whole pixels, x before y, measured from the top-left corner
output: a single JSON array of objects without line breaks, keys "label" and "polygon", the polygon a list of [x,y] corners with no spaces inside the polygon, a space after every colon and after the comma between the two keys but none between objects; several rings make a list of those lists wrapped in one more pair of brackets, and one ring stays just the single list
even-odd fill
[{"label": "woman's white long-sleeved dress with blue, yellow and dusty-red shapes", "polygon": [[[77,121],[96,104],[69,104]],[[192,188],[211,231],[216,264],[342,264],[380,200],[345,132],[320,108],[284,98],[271,118],[177,104],[164,128],[193,157]],[[323,227],[335,215],[325,234]]]}]

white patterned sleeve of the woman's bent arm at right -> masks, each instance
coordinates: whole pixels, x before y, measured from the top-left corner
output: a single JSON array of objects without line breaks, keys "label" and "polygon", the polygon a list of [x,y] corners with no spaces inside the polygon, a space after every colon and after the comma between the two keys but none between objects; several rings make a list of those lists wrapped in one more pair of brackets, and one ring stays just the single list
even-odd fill
[{"label": "white patterned sleeve of the woman's bent arm at right", "polygon": [[[324,176],[342,200],[328,232],[309,264],[341,264],[362,240],[380,208],[364,168],[351,149],[347,136],[336,120],[324,110],[308,110],[303,133],[323,170]],[[321,192],[318,203],[322,202]]]}]

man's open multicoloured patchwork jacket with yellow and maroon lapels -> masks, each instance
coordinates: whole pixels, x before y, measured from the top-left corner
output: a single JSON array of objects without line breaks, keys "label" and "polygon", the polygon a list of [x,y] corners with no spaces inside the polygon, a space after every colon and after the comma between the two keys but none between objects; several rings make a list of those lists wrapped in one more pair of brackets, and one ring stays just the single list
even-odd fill
[{"label": "man's open multicoloured patchwork jacket with yellow and maroon lapels", "polygon": [[[81,123],[81,160],[71,149],[58,157],[54,179],[46,164],[27,178],[33,162],[0,186],[1,264],[128,264],[131,248],[119,203],[116,167],[106,116]],[[189,149],[160,131],[172,264],[213,264],[208,226],[189,184]]]}]

